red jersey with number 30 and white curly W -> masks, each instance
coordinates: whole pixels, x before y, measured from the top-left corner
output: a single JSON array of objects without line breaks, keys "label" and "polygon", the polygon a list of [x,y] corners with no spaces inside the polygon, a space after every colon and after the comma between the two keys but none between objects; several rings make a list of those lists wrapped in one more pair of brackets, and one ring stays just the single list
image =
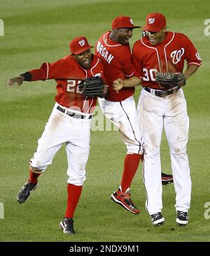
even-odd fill
[{"label": "red jersey with number 30 and white curly W", "polygon": [[156,45],[152,45],[148,37],[142,37],[132,50],[134,68],[143,79],[142,87],[151,89],[160,89],[155,72],[183,72],[185,60],[188,65],[201,65],[195,46],[181,33],[165,32],[165,40]]}]

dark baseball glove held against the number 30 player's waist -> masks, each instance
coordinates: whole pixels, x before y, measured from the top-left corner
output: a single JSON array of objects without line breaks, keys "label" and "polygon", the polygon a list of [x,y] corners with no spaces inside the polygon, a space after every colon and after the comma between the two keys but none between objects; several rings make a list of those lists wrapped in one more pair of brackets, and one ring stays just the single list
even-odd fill
[{"label": "dark baseball glove held against the number 30 player's waist", "polygon": [[156,73],[156,81],[161,88],[172,89],[174,87],[183,87],[186,84],[186,78],[181,72]]}]

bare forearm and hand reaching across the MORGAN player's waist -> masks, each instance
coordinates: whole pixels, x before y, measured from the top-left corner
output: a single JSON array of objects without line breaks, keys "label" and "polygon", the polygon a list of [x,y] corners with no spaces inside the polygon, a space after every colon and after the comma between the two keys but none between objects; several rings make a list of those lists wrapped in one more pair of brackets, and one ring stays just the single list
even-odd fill
[{"label": "bare forearm and hand reaching across the MORGAN player's waist", "polygon": [[123,87],[137,87],[137,85],[140,85],[142,80],[139,77],[130,77],[128,79],[116,79],[113,82],[113,89],[115,91],[120,91]]}]

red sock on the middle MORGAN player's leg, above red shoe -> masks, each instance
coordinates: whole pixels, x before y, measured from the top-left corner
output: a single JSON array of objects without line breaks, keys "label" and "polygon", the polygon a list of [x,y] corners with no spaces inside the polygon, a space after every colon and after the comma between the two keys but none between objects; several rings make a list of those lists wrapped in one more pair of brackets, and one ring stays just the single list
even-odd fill
[{"label": "red sock on the middle MORGAN player's leg, above red shoe", "polygon": [[140,159],[143,161],[143,155],[127,154],[124,161],[123,177],[121,181],[122,192],[125,193],[127,188],[130,188],[134,175],[139,167]]}]

